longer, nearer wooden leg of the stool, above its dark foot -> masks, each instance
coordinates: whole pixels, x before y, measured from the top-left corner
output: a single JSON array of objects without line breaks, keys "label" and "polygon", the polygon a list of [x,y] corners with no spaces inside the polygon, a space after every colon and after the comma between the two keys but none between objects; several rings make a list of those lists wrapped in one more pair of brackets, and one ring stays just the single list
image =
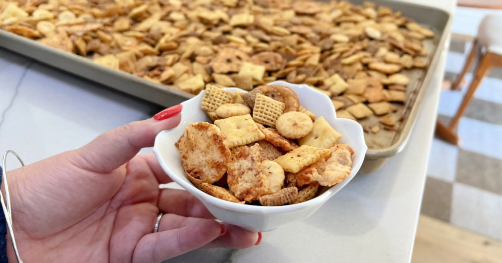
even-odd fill
[{"label": "longer, nearer wooden leg of the stool, above its dark foot", "polygon": [[493,56],[492,53],[487,52],[481,58],[481,61],[479,62],[476,71],[474,72],[474,76],[469,85],[469,89],[465,93],[464,99],[462,100],[462,103],[458,107],[457,113],[455,114],[455,116],[453,116],[453,119],[451,119],[450,124],[448,125],[448,129],[453,130],[455,129],[455,126],[457,126],[460,117],[462,117],[462,115],[465,112],[465,109],[467,108],[467,105],[469,105],[469,102],[472,100],[472,96],[474,95],[477,86],[479,86],[481,80],[488,73],[492,65],[492,60],[491,60],[492,56]]}]

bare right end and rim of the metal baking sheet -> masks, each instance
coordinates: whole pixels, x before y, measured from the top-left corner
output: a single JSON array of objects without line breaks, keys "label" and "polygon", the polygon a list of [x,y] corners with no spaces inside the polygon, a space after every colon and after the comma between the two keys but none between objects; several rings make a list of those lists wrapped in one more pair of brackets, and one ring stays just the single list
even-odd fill
[{"label": "bare right end and rim of the metal baking sheet", "polygon": [[[354,0],[350,2],[362,4],[364,1]],[[376,0],[372,2],[378,6],[387,6],[395,11],[401,11],[405,17],[411,18],[417,23],[433,30],[435,37],[424,41],[424,47],[429,52],[426,69],[412,69],[402,72],[410,78],[410,83],[406,91],[407,102],[398,108],[398,112],[395,115],[400,116],[400,121],[395,127],[396,130],[388,131],[383,129],[377,134],[372,134],[371,132],[365,133],[368,151],[366,152],[360,173],[370,173],[380,169],[388,157],[396,155],[406,146],[453,22],[453,18],[448,12],[437,8],[398,1]],[[371,116],[359,123],[365,125],[371,121],[371,118],[376,117]]]}]

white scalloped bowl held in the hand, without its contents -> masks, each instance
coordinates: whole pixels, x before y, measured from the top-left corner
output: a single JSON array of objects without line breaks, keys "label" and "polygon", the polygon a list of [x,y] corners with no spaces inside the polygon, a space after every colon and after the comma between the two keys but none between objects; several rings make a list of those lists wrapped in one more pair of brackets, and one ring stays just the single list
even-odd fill
[{"label": "white scalloped bowl held in the hand, without its contents", "polygon": [[[321,92],[318,92],[307,85],[296,85],[287,82],[276,81],[270,85],[282,85],[291,88],[298,95],[300,104],[309,111],[315,113],[317,117],[324,118],[336,131],[342,135],[340,143],[346,143],[354,149],[352,157],[352,172],[342,182],[330,187],[325,192],[315,198],[298,203],[283,206],[257,206],[248,204],[238,204],[213,197],[202,192],[188,181],[183,168],[181,167],[181,157],[174,143],[185,132],[192,122],[211,120],[200,108],[200,102],[204,92],[194,98],[183,102],[181,123],[176,128],[164,130],[155,138],[154,153],[157,156],[164,171],[181,187],[199,198],[209,211],[219,220],[238,225],[244,229],[252,231],[268,231],[289,222],[305,219],[312,215],[331,196],[345,186],[359,171],[364,155],[366,154],[366,144],[362,127],[355,121],[349,119],[336,118],[335,110],[331,100]],[[242,91],[238,88],[227,88],[230,91]]]}]

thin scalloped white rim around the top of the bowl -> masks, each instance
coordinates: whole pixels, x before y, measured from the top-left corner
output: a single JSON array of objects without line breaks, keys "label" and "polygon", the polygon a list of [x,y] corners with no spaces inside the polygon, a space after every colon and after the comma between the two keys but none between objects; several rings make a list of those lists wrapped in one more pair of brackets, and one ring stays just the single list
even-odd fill
[{"label": "thin scalloped white rim around the top of the bowl", "polygon": [[[275,81],[275,82],[269,83],[267,85],[294,86],[294,87],[298,87],[298,89],[308,88],[308,89],[310,89],[310,92],[313,92],[317,96],[320,96],[323,100],[329,100],[330,101],[330,98],[327,95],[325,95],[322,92],[319,92],[317,90],[311,89],[309,86],[304,85],[304,84],[291,84],[291,83],[287,83],[287,82],[284,82],[284,81]],[[235,87],[224,88],[224,89],[225,90],[229,90],[229,91],[234,91],[234,92],[235,91],[240,91],[240,92],[245,92],[245,93],[248,92],[248,91],[245,91],[245,90],[242,90],[242,89],[239,89],[239,88],[235,88]],[[204,96],[204,93],[205,93],[205,90],[201,91],[195,97],[182,102],[181,104],[184,106],[183,108],[185,109],[186,108],[185,106],[188,106],[188,105],[194,103],[196,100],[198,100],[199,98],[201,98],[202,96]],[[361,151],[360,154],[362,156],[361,158],[364,158],[365,152],[367,151],[367,146],[366,146],[366,143],[364,142],[364,135],[363,135],[362,126],[360,126],[360,124],[357,123],[356,121],[353,121],[353,120],[350,120],[350,119],[337,118],[336,117],[336,112],[334,110],[334,107],[331,107],[330,109],[332,109],[332,114],[333,114],[333,116],[334,116],[334,118],[335,118],[336,121],[345,122],[348,125],[354,125],[355,124],[356,126],[358,126],[358,128],[359,128],[358,132],[360,133],[361,138],[363,140],[363,143],[362,143],[363,148],[362,148],[362,151]],[[331,114],[331,112],[326,113],[326,114]],[[189,191],[190,193],[192,193],[193,195],[195,195],[196,197],[198,197],[203,203],[205,203],[207,201],[207,202],[210,202],[212,205],[215,205],[215,206],[218,206],[218,207],[221,207],[221,208],[224,208],[224,209],[228,209],[228,210],[238,211],[238,212],[245,212],[245,213],[284,213],[284,212],[291,212],[291,211],[295,211],[295,210],[300,210],[300,209],[305,208],[305,207],[315,207],[315,206],[321,205],[324,202],[326,202],[329,198],[331,198],[341,188],[343,188],[353,177],[355,177],[355,175],[357,174],[357,172],[358,172],[358,170],[359,170],[359,168],[360,168],[360,166],[362,164],[362,161],[361,161],[361,164],[359,165],[357,171],[353,174],[353,176],[349,175],[347,178],[345,178],[342,181],[342,182],[345,181],[345,183],[341,184],[342,182],[340,182],[338,184],[335,184],[335,185],[329,187],[328,189],[326,189],[322,194],[320,194],[320,195],[318,195],[318,196],[316,196],[316,197],[314,197],[314,198],[312,198],[310,200],[301,202],[301,203],[281,205],[281,206],[261,206],[261,205],[251,205],[251,204],[235,203],[235,202],[230,202],[230,201],[226,201],[226,200],[214,197],[214,196],[212,196],[210,194],[207,194],[207,193],[203,192],[202,190],[200,190],[197,187],[195,187],[192,183],[187,182],[187,181],[183,180],[182,178],[180,178],[180,176],[176,175],[176,173],[174,173],[166,165],[166,163],[164,161],[161,161],[162,158],[160,156],[160,153],[157,150],[157,148],[159,147],[158,140],[159,140],[160,137],[163,136],[163,134],[169,133],[170,131],[171,130],[163,130],[159,134],[157,134],[157,136],[155,137],[155,143],[154,143],[154,147],[153,147],[153,152],[154,152],[155,156],[157,157],[157,160],[159,161],[161,167],[166,172],[166,174],[174,182],[178,183],[181,187],[183,187],[184,189],[186,189],[187,191]],[[352,171],[351,171],[351,173],[352,173]],[[186,174],[184,176],[186,177]],[[347,179],[349,179],[349,180],[347,180]]]}]

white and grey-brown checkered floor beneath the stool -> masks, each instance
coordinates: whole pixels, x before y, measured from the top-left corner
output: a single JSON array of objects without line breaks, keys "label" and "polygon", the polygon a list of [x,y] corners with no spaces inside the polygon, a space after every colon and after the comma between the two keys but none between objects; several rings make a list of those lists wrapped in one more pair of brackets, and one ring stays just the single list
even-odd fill
[{"label": "white and grey-brown checkered floor beneath the stool", "polygon": [[[469,50],[470,44],[452,42],[445,78],[454,79]],[[466,89],[441,92],[439,120],[449,122]],[[483,79],[457,132],[458,147],[433,141],[422,213],[502,240],[501,70]]]}]

